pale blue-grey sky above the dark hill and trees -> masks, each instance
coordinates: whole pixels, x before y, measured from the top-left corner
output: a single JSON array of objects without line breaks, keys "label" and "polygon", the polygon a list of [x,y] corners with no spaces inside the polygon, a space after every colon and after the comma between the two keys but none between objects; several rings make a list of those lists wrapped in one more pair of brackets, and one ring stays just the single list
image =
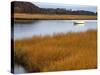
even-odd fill
[{"label": "pale blue-grey sky above the dark hill and trees", "polygon": [[86,5],[70,5],[70,4],[60,4],[60,3],[44,3],[44,2],[32,2],[40,8],[66,8],[72,10],[86,10],[96,12],[96,6],[86,6]]}]

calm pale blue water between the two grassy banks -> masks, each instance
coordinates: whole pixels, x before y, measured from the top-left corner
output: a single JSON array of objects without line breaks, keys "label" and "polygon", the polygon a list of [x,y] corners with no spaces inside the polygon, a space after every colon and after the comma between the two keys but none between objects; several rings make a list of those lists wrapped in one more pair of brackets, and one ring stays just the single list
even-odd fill
[{"label": "calm pale blue water between the two grassy banks", "polygon": [[32,23],[15,23],[14,39],[29,38],[34,35],[53,35],[54,33],[80,32],[96,29],[96,20],[84,20],[85,25],[74,25],[74,20],[39,20]]}]

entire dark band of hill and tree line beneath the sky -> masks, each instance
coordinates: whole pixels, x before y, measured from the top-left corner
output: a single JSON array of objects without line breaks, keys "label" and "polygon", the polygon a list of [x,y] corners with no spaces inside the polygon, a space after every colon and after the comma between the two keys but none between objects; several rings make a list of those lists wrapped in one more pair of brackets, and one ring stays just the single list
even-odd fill
[{"label": "entire dark band of hill and tree line beneath the sky", "polygon": [[31,2],[13,1],[11,2],[14,13],[33,13],[33,14],[66,14],[66,15],[97,15],[97,12],[76,10],[66,10],[65,8],[39,8]]}]

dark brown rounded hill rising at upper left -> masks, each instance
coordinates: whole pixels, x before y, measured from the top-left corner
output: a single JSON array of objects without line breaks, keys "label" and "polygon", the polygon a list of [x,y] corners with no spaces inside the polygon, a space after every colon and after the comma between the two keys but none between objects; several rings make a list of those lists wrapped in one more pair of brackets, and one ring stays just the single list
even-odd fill
[{"label": "dark brown rounded hill rising at upper left", "polygon": [[11,5],[15,13],[37,13],[39,7],[32,4],[31,2],[13,1]]}]

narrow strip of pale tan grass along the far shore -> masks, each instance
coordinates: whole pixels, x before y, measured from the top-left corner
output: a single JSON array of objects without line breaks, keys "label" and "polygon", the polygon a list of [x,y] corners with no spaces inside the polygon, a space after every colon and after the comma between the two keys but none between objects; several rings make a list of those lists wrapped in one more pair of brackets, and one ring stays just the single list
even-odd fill
[{"label": "narrow strip of pale tan grass along the far shore", "polygon": [[57,14],[25,14],[15,13],[15,20],[96,20],[96,15],[57,15]]}]

